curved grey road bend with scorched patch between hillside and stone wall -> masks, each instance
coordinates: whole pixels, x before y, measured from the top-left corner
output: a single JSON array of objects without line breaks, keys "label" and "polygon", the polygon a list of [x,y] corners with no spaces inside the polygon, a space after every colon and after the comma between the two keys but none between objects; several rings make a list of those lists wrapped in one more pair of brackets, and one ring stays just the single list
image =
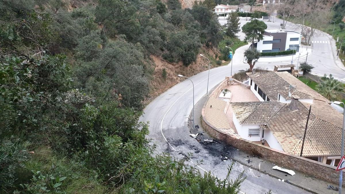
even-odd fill
[{"label": "curved grey road bend with scorched patch between hillside and stone wall", "polygon": [[[234,65],[233,73],[245,68],[247,66],[243,64]],[[215,87],[229,75],[230,66],[211,69],[209,88]],[[194,81],[195,101],[197,102],[206,94],[207,71],[200,72],[190,78]],[[150,122],[149,138],[157,145],[157,152],[167,152],[167,140],[171,145],[172,156],[183,157],[185,154],[192,153],[192,163],[203,161],[198,165],[201,172],[211,171],[218,178],[225,178],[231,160],[221,161],[220,152],[211,150],[189,136],[187,121],[192,108],[193,88],[190,80],[187,79],[170,88],[146,106],[140,121]],[[195,116],[200,117],[200,115]],[[196,125],[200,125],[200,123],[196,123]],[[231,149],[234,148],[220,149],[227,152],[227,155],[231,155]],[[190,165],[193,165],[192,163]],[[272,189],[273,193],[279,194],[308,193],[239,163],[235,163],[230,177],[235,179],[243,171],[245,171],[247,178],[241,185],[240,193],[263,194],[269,189]]]}]

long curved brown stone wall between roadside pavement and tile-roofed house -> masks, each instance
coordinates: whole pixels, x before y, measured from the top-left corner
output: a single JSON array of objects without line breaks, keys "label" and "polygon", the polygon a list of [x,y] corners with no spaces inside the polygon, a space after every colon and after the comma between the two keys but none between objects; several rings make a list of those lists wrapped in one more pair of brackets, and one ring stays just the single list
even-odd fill
[{"label": "long curved brown stone wall between roadside pavement and tile-roofed house", "polygon": [[[226,80],[224,80],[223,82],[221,82],[221,84],[219,84],[219,86],[214,90],[217,91],[216,94],[219,94],[220,91],[224,89],[226,83]],[[318,179],[332,182],[334,184],[338,183],[339,172],[335,171],[336,167],[334,166],[285,153],[267,146],[259,145],[246,139],[226,134],[222,130],[217,129],[207,122],[205,118],[205,105],[201,110],[201,125],[206,130],[206,132],[214,138],[221,140],[238,149],[241,149],[248,154],[254,154],[256,156],[262,157],[263,159],[273,162],[281,167],[294,169],[299,172],[314,176]],[[343,173],[343,176],[345,176],[345,172]],[[345,184],[345,179],[343,179],[343,184]]]}]

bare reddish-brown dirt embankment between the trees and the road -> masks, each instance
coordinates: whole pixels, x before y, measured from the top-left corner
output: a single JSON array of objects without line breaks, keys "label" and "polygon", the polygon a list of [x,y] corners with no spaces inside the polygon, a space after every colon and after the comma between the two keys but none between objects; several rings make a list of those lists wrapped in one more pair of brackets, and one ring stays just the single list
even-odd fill
[{"label": "bare reddish-brown dirt embankment between the trees and the road", "polygon": [[[215,57],[215,54],[217,54],[218,51],[216,49],[203,47],[200,53],[207,53],[208,56]],[[172,86],[178,84],[180,81],[183,81],[184,79],[177,77],[178,74],[189,77],[208,69],[208,60],[200,55],[197,55],[197,60],[188,67],[184,66],[182,62],[170,63],[161,57],[154,55],[151,55],[150,57],[155,63],[155,70],[152,74],[150,96],[145,99],[145,104],[148,104],[161,93],[164,93]],[[211,68],[213,67],[215,66],[211,65]],[[166,79],[164,79],[162,75],[164,68],[167,72]]]}]

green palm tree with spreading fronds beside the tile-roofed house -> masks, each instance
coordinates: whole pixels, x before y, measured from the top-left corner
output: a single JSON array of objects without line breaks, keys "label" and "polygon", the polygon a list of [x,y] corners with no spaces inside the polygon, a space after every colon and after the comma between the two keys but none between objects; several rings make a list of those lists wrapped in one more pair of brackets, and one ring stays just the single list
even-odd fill
[{"label": "green palm tree with spreading fronds beside the tile-roofed house", "polygon": [[318,93],[328,100],[335,101],[340,99],[341,92],[344,92],[343,84],[336,79],[327,79],[316,86]]}]

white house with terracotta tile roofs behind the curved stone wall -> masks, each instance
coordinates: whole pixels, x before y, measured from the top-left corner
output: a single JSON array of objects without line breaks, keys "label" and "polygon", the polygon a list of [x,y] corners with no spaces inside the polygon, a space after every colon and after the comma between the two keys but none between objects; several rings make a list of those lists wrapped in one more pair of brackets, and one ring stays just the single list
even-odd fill
[{"label": "white house with terracotta tile roofs behind the curved stone wall", "polygon": [[303,157],[336,166],[340,160],[342,114],[330,101],[288,72],[248,73],[260,102],[230,103],[237,133],[250,141],[300,155],[309,106]]}]

